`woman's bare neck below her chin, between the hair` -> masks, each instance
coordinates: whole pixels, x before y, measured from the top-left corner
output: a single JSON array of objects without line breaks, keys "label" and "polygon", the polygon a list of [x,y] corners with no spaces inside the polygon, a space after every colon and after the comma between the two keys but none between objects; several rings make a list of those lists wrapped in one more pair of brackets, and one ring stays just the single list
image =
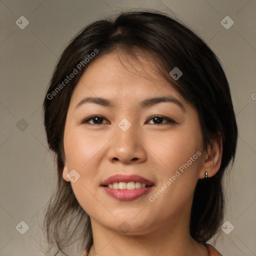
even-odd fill
[{"label": "woman's bare neck below her chin, between the hair", "polygon": [[206,247],[189,234],[189,219],[175,218],[145,234],[119,234],[91,219],[93,245],[88,256],[207,256]]}]

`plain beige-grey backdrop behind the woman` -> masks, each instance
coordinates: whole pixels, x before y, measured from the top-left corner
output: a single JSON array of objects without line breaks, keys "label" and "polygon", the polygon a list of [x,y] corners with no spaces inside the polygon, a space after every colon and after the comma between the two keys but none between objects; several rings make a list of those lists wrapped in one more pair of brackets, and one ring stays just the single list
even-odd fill
[{"label": "plain beige-grey backdrop behind the woman", "polygon": [[[226,178],[224,221],[234,229],[229,234],[220,230],[216,248],[224,256],[256,255],[255,0],[0,0],[0,255],[45,255],[40,225],[55,184],[42,124],[46,86],[58,56],[79,29],[127,8],[174,15],[219,57],[239,137]],[[220,23],[227,15],[234,21],[229,29]],[[15,23],[20,16],[29,21],[24,29]],[[24,234],[15,228],[20,221],[29,226]]]}]

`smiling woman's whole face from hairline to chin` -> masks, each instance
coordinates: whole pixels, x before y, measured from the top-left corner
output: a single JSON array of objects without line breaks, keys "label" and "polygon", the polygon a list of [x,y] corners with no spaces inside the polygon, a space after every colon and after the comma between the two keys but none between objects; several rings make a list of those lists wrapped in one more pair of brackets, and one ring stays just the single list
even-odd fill
[{"label": "smiling woman's whole face from hairline to chin", "polygon": [[151,70],[149,58],[140,58],[142,67],[119,57],[95,59],[73,91],[63,178],[72,181],[92,227],[145,234],[188,225],[194,187],[204,175],[198,114]]}]

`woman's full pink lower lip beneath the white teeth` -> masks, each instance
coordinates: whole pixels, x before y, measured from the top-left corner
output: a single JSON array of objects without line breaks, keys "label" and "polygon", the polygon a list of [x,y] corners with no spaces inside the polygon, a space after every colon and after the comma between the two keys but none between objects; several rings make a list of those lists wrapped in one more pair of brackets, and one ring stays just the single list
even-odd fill
[{"label": "woman's full pink lower lip beneath the white teeth", "polygon": [[108,195],[120,201],[134,200],[142,196],[143,194],[148,193],[152,188],[152,186],[134,188],[134,189],[113,189],[107,186],[102,186],[102,187],[105,189]]}]

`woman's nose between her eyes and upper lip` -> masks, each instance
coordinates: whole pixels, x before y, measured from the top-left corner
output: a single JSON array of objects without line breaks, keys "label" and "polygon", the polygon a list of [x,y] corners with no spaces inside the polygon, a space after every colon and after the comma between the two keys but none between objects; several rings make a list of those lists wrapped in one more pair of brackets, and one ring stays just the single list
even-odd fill
[{"label": "woman's nose between her eyes and upper lip", "polygon": [[131,164],[146,160],[146,145],[138,127],[131,125],[128,130],[123,131],[117,126],[115,132],[107,152],[109,161]]}]

